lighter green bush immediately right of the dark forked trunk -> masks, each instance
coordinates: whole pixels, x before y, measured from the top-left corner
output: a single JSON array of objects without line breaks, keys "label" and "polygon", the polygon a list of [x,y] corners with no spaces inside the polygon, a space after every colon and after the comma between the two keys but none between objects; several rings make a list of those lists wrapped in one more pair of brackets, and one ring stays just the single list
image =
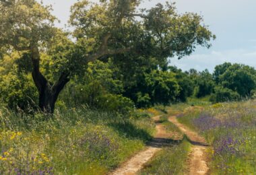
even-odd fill
[{"label": "lighter green bush immediately right of the dark forked trunk", "polygon": [[115,69],[111,69],[110,63],[89,63],[84,77],[71,81],[61,94],[60,101],[72,107],[87,105],[90,108],[127,113],[133,110],[134,104],[121,95],[123,83],[115,79],[114,75]]}]

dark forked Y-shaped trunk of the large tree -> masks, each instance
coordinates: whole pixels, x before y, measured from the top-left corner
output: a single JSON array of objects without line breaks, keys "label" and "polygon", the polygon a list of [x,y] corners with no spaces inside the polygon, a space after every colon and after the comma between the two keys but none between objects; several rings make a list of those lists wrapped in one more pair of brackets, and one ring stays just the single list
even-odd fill
[{"label": "dark forked Y-shaped trunk of the large tree", "polygon": [[69,82],[69,73],[63,72],[59,80],[51,85],[40,72],[40,53],[38,48],[32,47],[31,52],[33,63],[32,77],[39,92],[39,108],[42,112],[53,114],[59,93],[63,90],[65,84]]}]

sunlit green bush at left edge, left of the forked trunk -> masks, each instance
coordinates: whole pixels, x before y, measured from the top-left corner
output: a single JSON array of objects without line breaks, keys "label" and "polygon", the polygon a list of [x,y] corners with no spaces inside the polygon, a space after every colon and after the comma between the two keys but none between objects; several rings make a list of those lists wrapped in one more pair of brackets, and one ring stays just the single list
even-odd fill
[{"label": "sunlit green bush at left edge, left of the forked trunk", "polygon": [[0,61],[0,101],[11,109],[28,112],[36,108],[38,92],[26,63],[23,69],[18,68],[22,61],[16,53]]}]

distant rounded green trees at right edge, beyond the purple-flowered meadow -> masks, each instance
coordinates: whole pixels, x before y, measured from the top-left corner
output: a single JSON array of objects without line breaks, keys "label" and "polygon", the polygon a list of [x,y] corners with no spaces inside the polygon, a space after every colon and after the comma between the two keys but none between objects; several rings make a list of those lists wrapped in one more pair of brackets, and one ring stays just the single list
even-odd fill
[{"label": "distant rounded green trees at right edge, beyond the purple-flowered meadow", "polygon": [[212,74],[207,69],[201,72],[191,69],[186,74],[195,84],[195,97],[210,96],[213,103],[244,100],[255,94],[256,71],[248,65],[223,63]]}]

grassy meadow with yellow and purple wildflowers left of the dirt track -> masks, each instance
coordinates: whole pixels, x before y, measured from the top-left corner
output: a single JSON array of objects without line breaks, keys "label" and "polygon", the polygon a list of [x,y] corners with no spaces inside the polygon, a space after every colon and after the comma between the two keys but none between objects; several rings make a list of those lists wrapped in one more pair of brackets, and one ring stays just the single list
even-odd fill
[{"label": "grassy meadow with yellow and purple wildflowers left of the dirt track", "polygon": [[0,110],[0,174],[105,174],[154,133],[149,117],[87,108],[45,117]]}]

